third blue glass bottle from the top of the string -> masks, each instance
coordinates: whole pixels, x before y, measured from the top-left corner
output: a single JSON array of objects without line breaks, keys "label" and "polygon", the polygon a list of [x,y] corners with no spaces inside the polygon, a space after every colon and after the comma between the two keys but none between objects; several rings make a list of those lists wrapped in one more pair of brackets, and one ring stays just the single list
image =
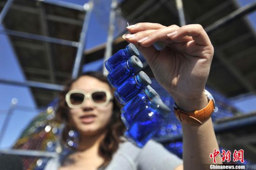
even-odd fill
[{"label": "third blue glass bottle from the top of the string", "polygon": [[142,88],[150,84],[151,80],[148,75],[145,72],[140,71],[134,77],[128,78],[115,90],[115,98],[119,101],[119,103],[125,105],[129,100],[134,98]]}]

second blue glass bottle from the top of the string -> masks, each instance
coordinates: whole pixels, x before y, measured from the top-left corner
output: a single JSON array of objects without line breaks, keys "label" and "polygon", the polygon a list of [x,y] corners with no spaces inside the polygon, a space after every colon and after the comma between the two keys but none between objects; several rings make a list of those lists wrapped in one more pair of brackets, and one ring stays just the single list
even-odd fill
[{"label": "second blue glass bottle from the top of the string", "polygon": [[117,88],[120,86],[127,78],[135,75],[143,68],[141,60],[133,55],[127,62],[118,65],[112,72],[108,74],[108,82],[113,87]]}]

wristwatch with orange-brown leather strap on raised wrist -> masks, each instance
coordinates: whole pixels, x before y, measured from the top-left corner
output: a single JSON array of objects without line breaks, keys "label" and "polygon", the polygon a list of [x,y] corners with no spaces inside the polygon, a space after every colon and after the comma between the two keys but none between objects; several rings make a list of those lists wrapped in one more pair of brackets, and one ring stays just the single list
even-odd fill
[{"label": "wristwatch with orange-brown leather strap on raised wrist", "polygon": [[208,105],[198,111],[182,111],[176,104],[174,104],[174,113],[176,118],[183,124],[188,124],[190,126],[200,126],[203,124],[211,117],[213,111],[215,111],[215,100],[213,96],[207,90],[205,90],[205,95],[208,98]]}]

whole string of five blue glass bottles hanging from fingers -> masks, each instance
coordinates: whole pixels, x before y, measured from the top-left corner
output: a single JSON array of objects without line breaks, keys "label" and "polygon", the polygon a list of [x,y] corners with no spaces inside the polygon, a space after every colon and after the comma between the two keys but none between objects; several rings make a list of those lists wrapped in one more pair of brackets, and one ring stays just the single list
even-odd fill
[{"label": "whole string of five blue glass bottles hanging from fingers", "polygon": [[124,105],[121,119],[127,127],[125,137],[143,147],[159,130],[170,110],[150,86],[148,75],[136,56],[139,51],[133,44],[116,52],[105,62],[108,82],[116,88],[115,98]]}]

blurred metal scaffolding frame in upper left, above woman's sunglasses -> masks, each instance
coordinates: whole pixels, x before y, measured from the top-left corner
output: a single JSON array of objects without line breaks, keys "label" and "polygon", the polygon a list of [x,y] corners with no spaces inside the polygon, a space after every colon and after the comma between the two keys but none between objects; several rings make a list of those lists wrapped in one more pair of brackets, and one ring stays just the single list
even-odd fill
[{"label": "blurred metal scaffolding frame in upper left, above woman's sunglasses", "polygon": [[[37,0],[37,1],[40,1],[40,0]],[[2,30],[0,30],[0,33],[17,36],[17,37],[22,37],[22,38],[27,38],[27,39],[39,40],[39,41],[46,42],[46,43],[54,43],[54,44],[59,44],[59,45],[76,47],[77,52],[76,52],[75,62],[74,62],[73,71],[72,71],[72,78],[76,78],[81,69],[81,59],[83,57],[83,51],[84,51],[85,42],[86,42],[86,34],[87,34],[88,25],[89,25],[89,21],[90,21],[92,9],[93,9],[93,0],[90,0],[84,6],[73,4],[73,3],[62,2],[62,1],[61,2],[60,1],[52,1],[52,0],[44,0],[44,1],[40,1],[40,2],[53,4],[53,5],[61,6],[61,7],[66,7],[66,8],[70,8],[70,9],[74,9],[74,10],[79,10],[79,11],[83,11],[86,13],[86,15],[84,17],[83,25],[82,25],[79,42],[70,41],[70,40],[66,40],[66,39],[58,39],[58,38],[54,38],[54,37],[48,37],[47,29],[46,29],[47,25],[45,23],[45,16],[44,16],[43,8],[40,8],[40,14],[41,14],[41,18],[42,18],[43,32],[45,35],[24,33],[24,32],[20,32],[20,31],[8,30],[8,29],[2,29]],[[12,6],[12,4],[13,4],[13,0],[7,0],[7,3],[5,4],[5,6],[3,7],[3,9],[0,13],[0,25],[2,25],[2,21],[4,20],[4,17],[6,16],[8,10]],[[49,55],[49,48],[50,48],[50,46],[47,45],[47,51],[48,51],[47,57],[48,57],[48,61],[50,64],[51,79],[52,79],[51,84],[34,82],[34,81],[18,82],[18,81],[7,80],[7,79],[0,79],[0,83],[9,84],[9,85],[38,87],[38,88],[43,88],[43,89],[47,89],[47,90],[61,91],[63,89],[63,86],[54,85],[55,81],[52,76],[54,74],[54,71],[52,69],[53,64],[51,62],[52,56]]]}]

